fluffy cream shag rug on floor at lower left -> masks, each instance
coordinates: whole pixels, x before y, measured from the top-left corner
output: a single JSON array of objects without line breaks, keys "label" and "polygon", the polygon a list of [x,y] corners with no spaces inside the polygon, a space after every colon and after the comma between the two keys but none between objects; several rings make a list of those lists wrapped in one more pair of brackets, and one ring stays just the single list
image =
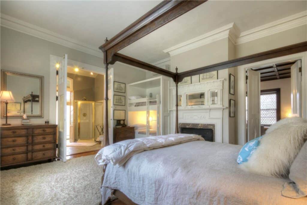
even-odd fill
[{"label": "fluffy cream shag rug on floor at lower left", "polygon": [[99,204],[95,155],[1,171],[1,204]]}]

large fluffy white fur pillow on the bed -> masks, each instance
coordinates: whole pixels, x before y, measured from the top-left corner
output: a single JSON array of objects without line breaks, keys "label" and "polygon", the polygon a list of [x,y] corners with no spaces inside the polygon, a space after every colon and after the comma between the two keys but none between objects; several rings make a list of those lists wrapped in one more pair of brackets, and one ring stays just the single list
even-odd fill
[{"label": "large fluffy white fur pillow on the bed", "polygon": [[283,120],[282,126],[266,133],[249,160],[239,166],[259,175],[287,177],[306,135],[305,119]]}]

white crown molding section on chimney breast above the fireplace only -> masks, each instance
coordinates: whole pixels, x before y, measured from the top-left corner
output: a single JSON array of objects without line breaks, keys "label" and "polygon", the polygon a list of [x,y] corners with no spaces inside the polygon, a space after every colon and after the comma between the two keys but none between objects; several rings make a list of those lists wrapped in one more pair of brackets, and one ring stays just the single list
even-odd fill
[{"label": "white crown molding section on chimney breast above the fireplace only", "polygon": [[171,48],[163,50],[163,52],[169,53],[170,56],[174,56],[179,53],[183,53],[185,51],[212,43],[214,41],[227,38],[229,35],[231,35],[230,40],[233,40],[236,38],[236,36],[239,36],[239,29],[237,28],[237,26],[235,26],[235,23],[230,23],[226,26],[210,31],[206,34],[200,35],[183,43],[177,44]]}]

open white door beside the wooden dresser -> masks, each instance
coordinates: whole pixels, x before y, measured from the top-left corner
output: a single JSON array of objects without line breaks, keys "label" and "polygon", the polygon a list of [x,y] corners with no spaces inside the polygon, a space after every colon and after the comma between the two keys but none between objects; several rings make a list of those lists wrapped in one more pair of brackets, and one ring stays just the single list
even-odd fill
[{"label": "open white door beside the wooden dresser", "polygon": [[66,90],[67,90],[67,54],[60,63],[58,76],[58,156],[66,162]]}]

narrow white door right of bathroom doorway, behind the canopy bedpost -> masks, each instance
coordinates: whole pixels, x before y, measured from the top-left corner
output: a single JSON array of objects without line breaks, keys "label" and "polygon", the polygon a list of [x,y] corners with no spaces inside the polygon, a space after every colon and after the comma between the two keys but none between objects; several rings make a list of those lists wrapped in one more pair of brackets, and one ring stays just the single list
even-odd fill
[{"label": "narrow white door right of bathroom doorway, behind the canopy bedpost", "polygon": [[113,105],[113,95],[114,95],[114,89],[113,89],[113,82],[114,82],[114,69],[108,69],[108,124],[109,124],[109,142],[110,144],[113,144],[113,128],[114,128],[114,105]]}]

